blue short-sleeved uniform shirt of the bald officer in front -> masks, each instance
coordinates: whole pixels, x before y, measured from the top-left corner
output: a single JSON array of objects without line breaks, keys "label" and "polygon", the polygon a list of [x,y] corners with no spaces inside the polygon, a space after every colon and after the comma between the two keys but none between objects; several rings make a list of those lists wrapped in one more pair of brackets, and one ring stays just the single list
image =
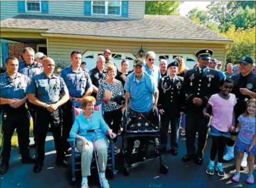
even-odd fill
[{"label": "blue short-sleeved uniform shirt of the bald officer in front", "polygon": [[52,104],[59,101],[63,93],[69,92],[62,77],[57,74],[47,77],[43,72],[32,77],[27,93],[36,95],[41,102]]}]

